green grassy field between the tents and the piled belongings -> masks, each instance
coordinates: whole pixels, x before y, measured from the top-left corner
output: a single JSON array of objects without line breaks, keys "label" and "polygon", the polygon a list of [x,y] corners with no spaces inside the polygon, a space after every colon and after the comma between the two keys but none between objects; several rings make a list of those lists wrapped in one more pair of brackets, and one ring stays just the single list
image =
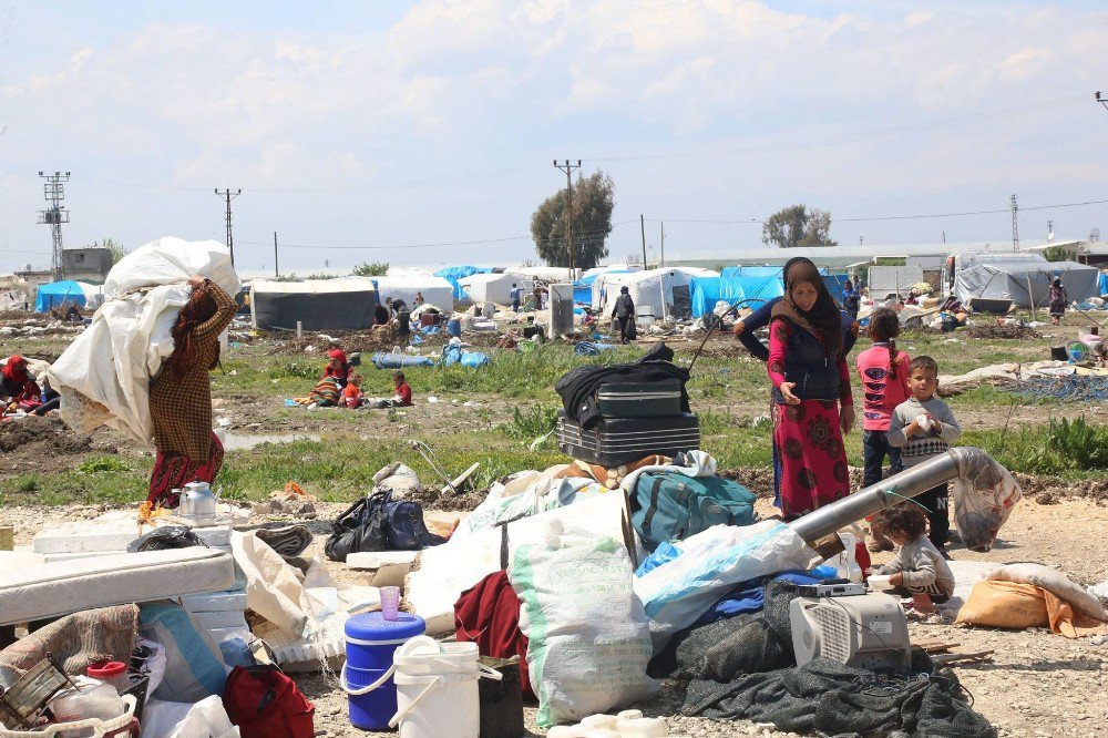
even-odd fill
[{"label": "green grassy field between the tents and the piled belongings", "polygon": [[[1087,320],[1080,321],[1081,325]],[[900,346],[913,356],[929,353],[942,373],[963,373],[997,362],[1048,358],[1049,346],[1068,339],[1073,328],[1027,340],[966,339],[963,334],[907,334]],[[859,349],[866,346],[859,342]],[[680,341],[678,362],[687,365],[695,344]],[[704,448],[722,469],[768,469],[771,459],[768,380],[765,365],[745,356],[724,357],[726,342],[697,360],[689,394],[700,417]],[[64,344],[49,339],[16,347],[30,356],[57,356]],[[266,345],[228,351],[223,371],[213,372],[213,396],[225,403],[233,432],[267,433],[302,430],[318,440],[264,443],[227,452],[219,484],[225,495],[263,499],[288,481],[296,481],[325,500],[348,500],[365,491],[373,473],[401,460],[427,482],[432,469],[412,451],[410,439],[432,444],[442,467],[459,473],[473,462],[479,486],[521,469],[543,469],[565,462],[553,439],[531,450],[532,441],[554,422],[560,398],[554,385],[566,371],[584,363],[619,362],[642,356],[647,347],[618,348],[598,357],[579,357],[563,345],[547,345],[533,353],[491,350],[494,359],[481,369],[460,366],[412,368],[407,376],[417,392],[419,413],[406,411],[330,411],[311,413],[286,408],[283,399],[306,393],[322,360],[312,356],[270,356]],[[391,394],[390,373],[363,367],[367,394]],[[427,404],[437,397],[441,406]],[[480,407],[462,409],[466,400]],[[951,399],[964,418],[964,444],[979,445],[1014,471],[1061,480],[1104,476],[1108,471],[1108,429],[1095,414],[1108,410],[1059,401],[1028,402],[989,387]],[[441,411],[437,408],[442,408]],[[1088,424],[1063,428],[1057,418],[1086,414]],[[414,416],[414,417],[413,417]],[[1055,422],[1051,428],[1051,422]],[[96,431],[101,433],[103,431]],[[861,464],[861,433],[847,437],[852,465]],[[0,503],[63,504],[70,502],[131,502],[145,496],[153,459],[148,450],[120,443],[117,453],[93,452],[55,467],[21,472],[8,468],[0,475]]]}]

